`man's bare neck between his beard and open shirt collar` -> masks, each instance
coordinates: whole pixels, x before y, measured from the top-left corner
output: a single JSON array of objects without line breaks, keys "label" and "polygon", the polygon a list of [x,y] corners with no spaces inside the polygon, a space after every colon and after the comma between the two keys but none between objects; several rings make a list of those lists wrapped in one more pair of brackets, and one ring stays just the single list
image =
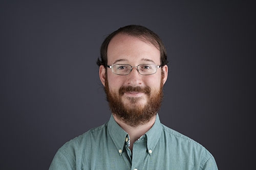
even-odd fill
[{"label": "man's bare neck between his beard and open shirt collar", "polygon": [[117,118],[117,116],[115,116],[113,114],[114,119],[116,120],[116,123],[125,131],[129,134],[130,136],[130,150],[133,150],[133,143],[138,140],[141,136],[143,136],[148,130],[150,130],[152,128],[152,126],[155,123],[156,120],[156,116],[154,116],[148,123],[144,124],[144,125],[139,125],[137,127],[132,127],[130,125],[125,124],[124,122],[122,122],[122,120],[120,120],[119,118]]}]

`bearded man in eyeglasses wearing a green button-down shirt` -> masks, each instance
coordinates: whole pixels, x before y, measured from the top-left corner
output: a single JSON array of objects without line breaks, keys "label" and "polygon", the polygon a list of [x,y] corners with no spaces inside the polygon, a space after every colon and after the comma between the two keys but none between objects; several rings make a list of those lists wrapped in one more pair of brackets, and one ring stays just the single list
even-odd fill
[{"label": "bearded man in eyeglasses wearing a green button-down shirt", "polygon": [[202,145],[160,123],[168,67],[158,35],[120,28],[102,43],[97,64],[111,118],[64,144],[50,169],[218,169]]}]

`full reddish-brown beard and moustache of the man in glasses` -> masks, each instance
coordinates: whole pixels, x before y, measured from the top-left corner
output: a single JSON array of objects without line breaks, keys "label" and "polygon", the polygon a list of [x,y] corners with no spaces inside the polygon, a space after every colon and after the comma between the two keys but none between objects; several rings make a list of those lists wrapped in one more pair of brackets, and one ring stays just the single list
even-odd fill
[{"label": "full reddish-brown beard and moustache of the man in glasses", "polygon": [[[144,125],[154,118],[161,107],[163,100],[163,83],[160,88],[152,91],[148,86],[121,86],[118,92],[111,92],[109,89],[108,78],[105,80],[106,100],[109,102],[112,113],[123,123],[132,127]],[[122,101],[125,92],[143,92],[146,95],[147,102],[143,106],[139,104],[144,97],[126,97],[126,104]],[[144,99],[146,100],[146,99]]]}]

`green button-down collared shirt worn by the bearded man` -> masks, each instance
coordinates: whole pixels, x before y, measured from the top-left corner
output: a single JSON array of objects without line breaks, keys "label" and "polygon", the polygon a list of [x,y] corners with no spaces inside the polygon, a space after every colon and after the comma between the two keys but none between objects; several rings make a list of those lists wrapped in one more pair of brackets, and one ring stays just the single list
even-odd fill
[{"label": "green button-down collared shirt worn by the bearded man", "polygon": [[111,116],[56,153],[50,169],[218,169],[214,157],[199,143],[162,125],[154,126],[129,149],[129,135]]}]

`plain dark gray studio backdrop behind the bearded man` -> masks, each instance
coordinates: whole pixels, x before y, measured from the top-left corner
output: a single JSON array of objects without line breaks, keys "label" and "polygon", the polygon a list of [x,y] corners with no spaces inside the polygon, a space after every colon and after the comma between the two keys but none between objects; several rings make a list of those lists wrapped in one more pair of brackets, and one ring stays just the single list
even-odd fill
[{"label": "plain dark gray studio backdrop behind the bearded man", "polygon": [[219,169],[253,165],[253,3],[1,1],[0,16],[0,169],[48,169],[62,144],[109,119],[96,59],[106,35],[130,24],[167,48],[161,122]]}]

